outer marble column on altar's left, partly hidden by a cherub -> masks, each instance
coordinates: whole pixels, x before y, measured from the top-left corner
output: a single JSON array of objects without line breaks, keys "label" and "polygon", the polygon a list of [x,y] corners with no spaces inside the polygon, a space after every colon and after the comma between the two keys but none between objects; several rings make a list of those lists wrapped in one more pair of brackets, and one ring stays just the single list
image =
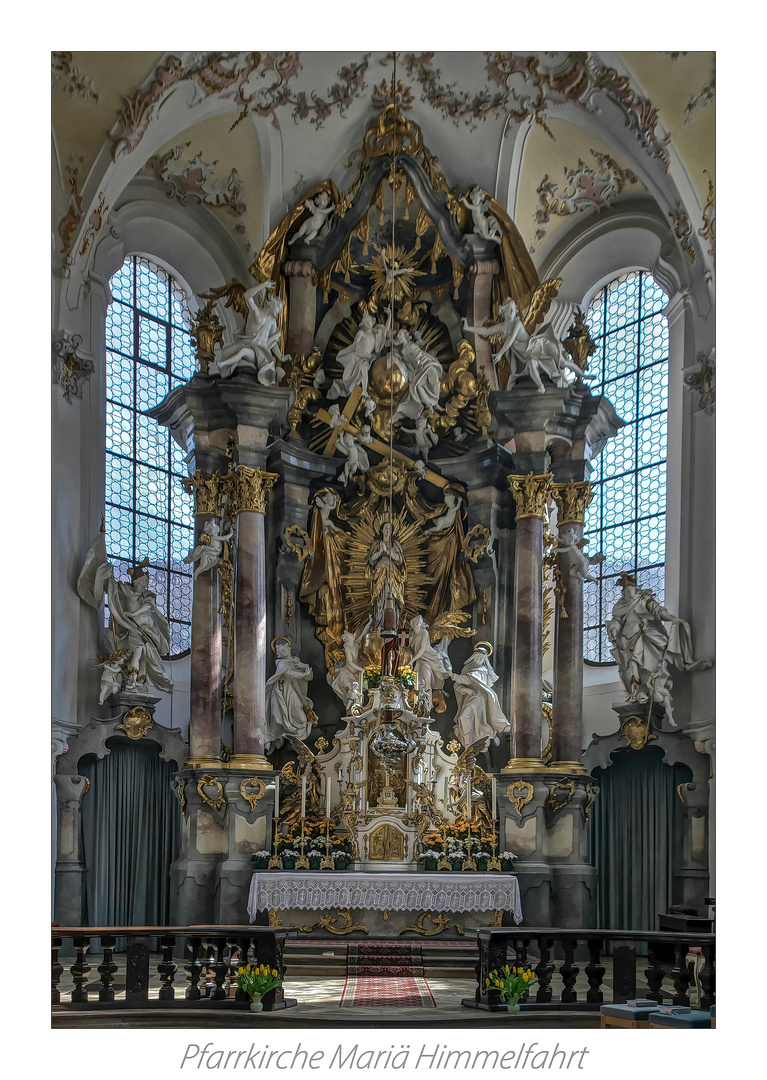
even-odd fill
[{"label": "outer marble column on altar's left, partly hidden by a cherub", "polygon": [[[194,496],[194,543],[205,522],[219,521],[221,477],[198,469],[184,480]],[[220,761],[221,740],[221,623],[218,618],[218,572],[200,573],[192,590],[189,702],[189,760],[187,768]]]}]

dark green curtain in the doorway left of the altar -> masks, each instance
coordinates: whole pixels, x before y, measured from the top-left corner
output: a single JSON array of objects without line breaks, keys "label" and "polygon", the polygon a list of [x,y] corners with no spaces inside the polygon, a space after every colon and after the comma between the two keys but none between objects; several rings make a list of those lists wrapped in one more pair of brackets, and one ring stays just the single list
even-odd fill
[{"label": "dark green curtain in the doorway left of the altar", "polygon": [[171,788],[178,766],[150,742],[107,740],[110,754],[84,759],[82,801],[88,924],[167,926],[171,863],[180,807]]}]

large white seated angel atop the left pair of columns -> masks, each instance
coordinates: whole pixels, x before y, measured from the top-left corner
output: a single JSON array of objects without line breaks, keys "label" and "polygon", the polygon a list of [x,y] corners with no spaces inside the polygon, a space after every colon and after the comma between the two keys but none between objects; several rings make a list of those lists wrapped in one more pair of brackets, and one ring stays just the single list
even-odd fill
[{"label": "large white seated angel atop the left pair of columns", "polygon": [[267,295],[273,288],[273,281],[265,281],[245,291],[242,297],[247,307],[245,328],[221,348],[211,364],[213,374],[217,372],[226,379],[239,367],[255,367],[264,387],[273,387],[282,380],[285,375],[282,364],[291,357],[280,351],[279,318],[285,301]]}]

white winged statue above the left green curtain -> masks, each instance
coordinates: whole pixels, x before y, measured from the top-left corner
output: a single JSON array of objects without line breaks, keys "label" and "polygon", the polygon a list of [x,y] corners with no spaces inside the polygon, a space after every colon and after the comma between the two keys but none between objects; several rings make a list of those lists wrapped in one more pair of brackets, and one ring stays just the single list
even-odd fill
[{"label": "white winged statue above the left green curtain", "polygon": [[158,690],[173,690],[163,656],[171,651],[171,630],[149,589],[145,559],[129,570],[131,581],[116,581],[115,567],[107,557],[106,538],[99,532],[91,544],[77,582],[78,595],[98,608],[106,594],[115,651],[124,650],[125,685],[134,693],[147,693],[147,683]]}]

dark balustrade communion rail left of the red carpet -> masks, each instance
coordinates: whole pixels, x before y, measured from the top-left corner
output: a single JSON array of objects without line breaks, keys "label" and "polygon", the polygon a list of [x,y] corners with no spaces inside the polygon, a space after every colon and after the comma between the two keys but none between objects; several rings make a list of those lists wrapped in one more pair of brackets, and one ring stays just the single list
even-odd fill
[{"label": "dark balustrade communion rail left of the red carpet", "polygon": [[[284,977],[283,948],[295,930],[277,927],[54,927],[51,936],[51,984],[54,1009],[223,1009],[243,1010],[251,999],[236,983],[237,969],[246,963],[266,963]],[[125,939],[124,997],[118,994],[115,976],[121,968],[115,962],[119,937]],[[92,939],[97,939],[103,953],[96,968],[100,982],[88,985],[92,968],[88,962]],[[64,966],[58,954],[65,942],[71,941],[75,963],[69,968],[73,987],[59,990]],[[159,993],[150,996],[150,972],[153,942],[162,954],[156,973],[160,976]],[[174,953],[187,957],[186,988],[175,985],[178,964]],[[157,982],[157,980],[153,980]],[[264,1011],[290,1009],[295,998],[285,998],[281,986],[264,995]]]}]

